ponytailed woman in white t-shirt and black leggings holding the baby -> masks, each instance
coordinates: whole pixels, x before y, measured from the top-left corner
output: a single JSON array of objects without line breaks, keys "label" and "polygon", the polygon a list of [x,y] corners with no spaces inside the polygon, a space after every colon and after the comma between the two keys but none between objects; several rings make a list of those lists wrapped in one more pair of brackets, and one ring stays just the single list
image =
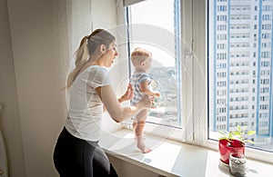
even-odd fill
[{"label": "ponytailed woman in white t-shirt and black leggings holding the baby", "polygon": [[76,68],[68,75],[68,115],[54,152],[61,177],[117,176],[98,145],[104,108],[120,123],[152,105],[144,97],[136,106],[121,107],[133,98],[132,87],[119,99],[111,86],[106,68],[116,58],[115,37],[104,29],[85,36],[76,51]]}]

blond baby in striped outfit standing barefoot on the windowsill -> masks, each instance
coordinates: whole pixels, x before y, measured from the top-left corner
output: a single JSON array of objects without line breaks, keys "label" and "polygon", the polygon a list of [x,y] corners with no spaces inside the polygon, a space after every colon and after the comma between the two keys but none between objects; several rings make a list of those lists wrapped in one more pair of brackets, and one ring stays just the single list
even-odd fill
[{"label": "blond baby in striped outfit standing barefoot on the windowsill", "polygon": [[[149,89],[151,79],[147,71],[151,68],[152,54],[143,48],[137,47],[131,54],[131,60],[135,67],[135,73],[130,78],[130,84],[134,90],[134,98],[131,105],[136,105],[138,101],[145,95],[159,97],[160,93],[152,92]],[[144,143],[144,127],[146,124],[148,110],[144,109],[134,117],[133,129],[136,137],[136,147],[144,153],[151,152]]]}]

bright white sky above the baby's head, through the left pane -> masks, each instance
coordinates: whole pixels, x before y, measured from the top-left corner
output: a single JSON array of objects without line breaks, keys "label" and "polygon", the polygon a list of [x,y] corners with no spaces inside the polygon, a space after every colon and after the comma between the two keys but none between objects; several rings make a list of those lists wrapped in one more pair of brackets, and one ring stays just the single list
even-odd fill
[{"label": "bright white sky above the baby's head, through the left pane", "polygon": [[[156,5],[156,6],[155,6]],[[151,33],[158,33],[157,37],[162,41],[173,43],[174,36],[174,5],[173,0],[149,0],[143,1],[131,6],[131,24],[145,24],[155,25],[158,31],[154,30]],[[161,29],[160,29],[161,28]],[[166,30],[166,33],[159,34],[160,31]],[[144,32],[143,32],[144,33]],[[135,35],[134,28],[132,29],[133,41],[138,42],[132,44],[133,48],[136,46],[144,47],[153,54],[153,66],[174,66],[174,46],[166,48],[157,43],[158,38],[155,38],[154,43],[145,44],[146,42],[139,41]],[[166,39],[165,39],[166,37]],[[172,39],[170,39],[172,38]]]}]

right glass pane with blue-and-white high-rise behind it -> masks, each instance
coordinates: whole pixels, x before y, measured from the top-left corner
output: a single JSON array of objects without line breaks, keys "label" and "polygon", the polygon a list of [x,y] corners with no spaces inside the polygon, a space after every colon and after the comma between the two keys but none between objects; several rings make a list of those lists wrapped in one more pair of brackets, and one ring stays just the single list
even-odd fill
[{"label": "right glass pane with blue-and-white high-rise behind it", "polygon": [[[272,0],[209,0],[209,138],[238,125],[273,150]],[[246,131],[246,132],[247,132]]]}]

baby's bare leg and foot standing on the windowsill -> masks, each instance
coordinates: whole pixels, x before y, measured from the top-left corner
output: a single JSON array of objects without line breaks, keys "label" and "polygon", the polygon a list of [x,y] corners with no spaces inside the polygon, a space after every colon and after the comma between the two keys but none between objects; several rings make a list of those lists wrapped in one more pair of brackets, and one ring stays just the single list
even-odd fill
[{"label": "baby's bare leg and foot standing on the windowsill", "polygon": [[144,153],[151,152],[152,150],[148,148],[144,141],[143,133],[144,127],[147,119],[147,110],[142,110],[136,115],[135,122],[133,123],[133,128],[136,135],[136,146],[137,148]]}]

